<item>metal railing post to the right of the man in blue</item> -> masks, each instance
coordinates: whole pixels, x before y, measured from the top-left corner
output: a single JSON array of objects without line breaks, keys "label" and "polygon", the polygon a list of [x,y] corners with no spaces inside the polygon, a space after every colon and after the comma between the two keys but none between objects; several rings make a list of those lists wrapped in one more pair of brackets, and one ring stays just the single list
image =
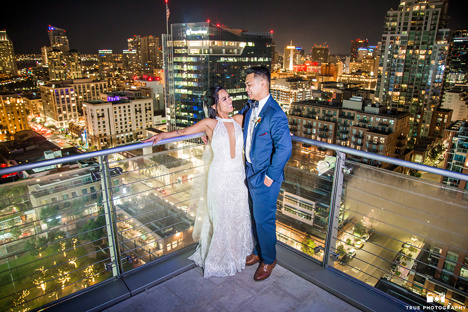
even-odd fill
[{"label": "metal railing post to the right of the man in blue", "polygon": [[338,224],[341,207],[341,194],[343,190],[343,168],[345,166],[346,154],[336,151],[335,172],[333,175],[333,186],[331,189],[330,215],[328,220],[327,239],[325,240],[325,250],[323,256],[323,266],[330,262],[330,252],[336,246],[338,236]]}]

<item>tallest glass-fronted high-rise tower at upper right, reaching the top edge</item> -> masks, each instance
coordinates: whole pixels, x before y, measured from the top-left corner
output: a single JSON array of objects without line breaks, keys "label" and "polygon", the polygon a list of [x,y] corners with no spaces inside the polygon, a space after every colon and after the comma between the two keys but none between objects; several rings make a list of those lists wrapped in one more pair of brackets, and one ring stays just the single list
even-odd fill
[{"label": "tallest glass-fronted high-rise tower at upper right, reaching the top edge", "polygon": [[448,52],[447,0],[401,2],[385,18],[376,101],[409,112],[410,136],[429,133]]}]

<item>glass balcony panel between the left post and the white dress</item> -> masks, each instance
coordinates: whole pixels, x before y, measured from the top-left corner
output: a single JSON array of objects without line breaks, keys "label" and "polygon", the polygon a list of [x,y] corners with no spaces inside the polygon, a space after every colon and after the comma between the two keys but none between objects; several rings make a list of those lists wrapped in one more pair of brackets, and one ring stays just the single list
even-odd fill
[{"label": "glass balcony panel between the left post and the white dress", "polygon": [[[123,271],[194,244],[191,203],[204,144],[119,160],[121,186],[112,187]],[[206,165],[206,164],[205,164]],[[198,177],[200,177],[198,175]],[[191,216],[189,215],[191,214]]]}]

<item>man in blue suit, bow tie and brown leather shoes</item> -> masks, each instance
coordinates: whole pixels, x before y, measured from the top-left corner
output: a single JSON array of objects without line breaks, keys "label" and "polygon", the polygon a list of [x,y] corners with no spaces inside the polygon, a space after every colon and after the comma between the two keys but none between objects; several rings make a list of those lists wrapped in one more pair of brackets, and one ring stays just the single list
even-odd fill
[{"label": "man in blue suit, bow tie and brown leather shoes", "polygon": [[244,116],[246,177],[255,248],[246,265],[261,262],[254,280],[270,276],[276,265],[276,200],[291,157],[288,118],[270,95],[270,71],[256,66],[246,70],[245,90],[250,100]]}]

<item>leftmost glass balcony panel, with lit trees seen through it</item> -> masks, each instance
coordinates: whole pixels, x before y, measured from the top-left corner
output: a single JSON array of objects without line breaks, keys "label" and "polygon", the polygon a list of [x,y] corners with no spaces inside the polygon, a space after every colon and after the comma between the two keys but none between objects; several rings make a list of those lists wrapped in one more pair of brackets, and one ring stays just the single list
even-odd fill
[{"label": "leftmost glass balcony panel, with lit trees seen through it", "polygon": [[1,307],[35,309],[115,275],[98,169],[2,184]]}]

